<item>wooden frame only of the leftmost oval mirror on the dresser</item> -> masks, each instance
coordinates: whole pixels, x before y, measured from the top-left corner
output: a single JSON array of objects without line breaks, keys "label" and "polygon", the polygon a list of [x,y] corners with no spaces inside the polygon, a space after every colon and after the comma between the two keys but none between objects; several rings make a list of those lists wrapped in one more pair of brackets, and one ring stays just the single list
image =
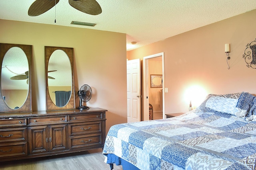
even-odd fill
[{"label": "wooden frame only of the leftmost oval mirror on the dresser", "polygon": [[[32,111],[32,100],[31,100],[31,61],[32,61],[32,45],[21,45],[21,44],[7,44],[7,43],[0,43],[0,64],[2,66],[4,55],[6,52],[12,48],[12,47],[20,47],[24,53],[26,54],[26,57],[28,59],[28,96],[24,104],[18,108],[18,109],[11,109],[9,108],[2,96],[2,91],[0,89],[0,112],[31,112]],[[2,68],[0,69],[0,78],[2,75]],[[18,98],[16,100],[19,100]]]}]

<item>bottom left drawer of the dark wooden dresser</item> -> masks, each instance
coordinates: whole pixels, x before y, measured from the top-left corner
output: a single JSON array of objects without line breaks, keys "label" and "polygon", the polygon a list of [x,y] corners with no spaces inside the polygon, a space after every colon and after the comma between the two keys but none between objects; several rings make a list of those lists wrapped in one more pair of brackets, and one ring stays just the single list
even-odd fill
[{"label": "bottom left drawer of the dark wooden dresser", "polygon": [[1,145],[0,158],[4,156],[21,156],[27,155],[27,142],[16,142]]}]

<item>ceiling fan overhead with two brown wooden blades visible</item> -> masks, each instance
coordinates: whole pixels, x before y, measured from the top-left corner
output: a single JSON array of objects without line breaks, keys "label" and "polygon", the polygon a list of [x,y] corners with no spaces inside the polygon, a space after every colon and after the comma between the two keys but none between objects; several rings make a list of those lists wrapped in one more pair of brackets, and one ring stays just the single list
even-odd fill
[{"label": "ceiling fan overhead with two brown wooden blades visible", "polygon": [[[36,0],[28,9],[29,16],[39,16],[50,10],[60,0]],[[69,4],[77,10],[90,15],[98,15],[102,9],[96,0],[68,0]]]}]

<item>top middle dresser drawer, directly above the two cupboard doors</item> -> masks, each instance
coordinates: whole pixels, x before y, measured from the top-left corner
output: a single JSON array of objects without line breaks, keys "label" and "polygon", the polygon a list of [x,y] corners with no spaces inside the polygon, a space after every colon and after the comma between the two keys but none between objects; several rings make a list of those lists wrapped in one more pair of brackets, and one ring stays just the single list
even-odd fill
[{"label": "top middle dresser drawer, directly above the two cupboard doors", "polygon": [[50,123],[66,123],[67,116],[31,117],[28,118],[28,125],[48,125]]}]

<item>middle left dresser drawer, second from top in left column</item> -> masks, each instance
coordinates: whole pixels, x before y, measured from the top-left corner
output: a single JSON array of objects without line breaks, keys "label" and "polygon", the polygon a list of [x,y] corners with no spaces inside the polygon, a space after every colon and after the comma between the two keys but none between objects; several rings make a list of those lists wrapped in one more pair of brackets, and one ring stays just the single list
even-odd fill
[{"label": "middle left dresser drawer, second from top in left column", "polygon": [[1,142],[14,142],[14,141],[26,141],[27,128],[7,128],[0,129],[0,143]]}]

